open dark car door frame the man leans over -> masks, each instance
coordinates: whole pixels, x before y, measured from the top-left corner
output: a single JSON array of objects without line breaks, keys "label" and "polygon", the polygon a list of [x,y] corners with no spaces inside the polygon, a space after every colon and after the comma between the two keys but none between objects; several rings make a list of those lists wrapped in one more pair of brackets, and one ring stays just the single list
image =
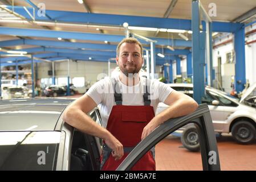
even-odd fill
[{"label": "open dark car door frame the man leans over", "polygon": [[[188,123],[194,123],[197,127],[198,137],[200,139],[202,167],[204,170],[220,170],[220,159],[214,133],[212,118],[207,104],[201,104],[194,113],[185,115],[184,117],[169,119],[162,125],[157,127],[142,140],[132,150],[132,152],[124,159],[117,168],[117,171],[129,170],[134,164],[153,146],[164,139],[167,135],[176,131]],[[214,156],[214,163],[210,162],[210,158]]]}]

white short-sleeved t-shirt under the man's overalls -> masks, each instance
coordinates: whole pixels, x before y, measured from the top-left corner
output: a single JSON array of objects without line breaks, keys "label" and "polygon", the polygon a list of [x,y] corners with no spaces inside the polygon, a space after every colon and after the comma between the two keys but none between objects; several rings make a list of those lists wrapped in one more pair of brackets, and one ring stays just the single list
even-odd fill
[{"label": "white short-sleeved t-shirt under the man's overalls", "polygon": [[[127,86],[120,81],[119,76],[115,76],[115,80],[119,84],[120,92],[122,94],[122,105],[144,105],[143,94],[145,92],[144,85],[146,79],[147,78],[145,77],[140,77],[139,84]],[[163,82],[151,80],[149,93],[151,94],[151,106],[153,106],[155,112],[159,102],[164,102],[172,91],[173,89]],[[109,77],[105,77],[103,80],[96,82],[86,92],[86,94],[100,107],[100,115],[104,127],[107,127],[108,117],[112,107],[116,105],[114,93],[113,84]]]}]

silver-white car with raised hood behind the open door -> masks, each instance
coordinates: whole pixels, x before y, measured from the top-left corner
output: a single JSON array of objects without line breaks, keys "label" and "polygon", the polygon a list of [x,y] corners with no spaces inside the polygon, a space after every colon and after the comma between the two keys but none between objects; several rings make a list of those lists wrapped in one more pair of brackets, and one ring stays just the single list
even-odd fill
[{"label": "silver-white car with raised hood behind the open door", "polygon": [[[193,84],[168,84],[174,90],[193,97]],[[230,96],[221,90],[206,86],[206,95],[202,97],[202,104],[209,106],[216,133],[230,133],[242,144],[252,143],[256,136],[256,84],[250,86],[243,93],[241,99]],[[254,98],[254,99],[251,99]],[[248,102],[251,100],[251,103]],[[166,109],[167,105],[160,103],[157,113]],[[197,130],[194,125],[188,126],[182,132],[181,142],[190,151],[200,150]]]}]

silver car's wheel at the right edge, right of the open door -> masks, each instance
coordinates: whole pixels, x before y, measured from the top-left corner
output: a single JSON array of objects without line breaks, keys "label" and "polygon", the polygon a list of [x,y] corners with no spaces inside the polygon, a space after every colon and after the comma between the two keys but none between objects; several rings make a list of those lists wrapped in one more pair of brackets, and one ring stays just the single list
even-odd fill
[{"label": "silver car's wheel at the right edge, right of the open door", "polygon": [[238,143],[252,143],[255,139],[256,129],[249,121],[238,121],[231,129],[232,136]]}]

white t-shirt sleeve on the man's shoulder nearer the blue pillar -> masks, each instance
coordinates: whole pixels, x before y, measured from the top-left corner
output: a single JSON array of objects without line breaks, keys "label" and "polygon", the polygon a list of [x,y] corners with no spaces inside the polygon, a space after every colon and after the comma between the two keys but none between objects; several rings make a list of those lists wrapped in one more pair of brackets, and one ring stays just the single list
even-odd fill
[{"label": "white t-shirt sleeve on the man's shoulder nearer the blue pillar", "polygon": [[156,97],[159,98],[159,102],[164,102],[169,94],[173,91],[170,86],[164,84],[163,82],[160,82],[159,80],[155,80],[153,82],[153,89],[155,89],[155,94]]}]

